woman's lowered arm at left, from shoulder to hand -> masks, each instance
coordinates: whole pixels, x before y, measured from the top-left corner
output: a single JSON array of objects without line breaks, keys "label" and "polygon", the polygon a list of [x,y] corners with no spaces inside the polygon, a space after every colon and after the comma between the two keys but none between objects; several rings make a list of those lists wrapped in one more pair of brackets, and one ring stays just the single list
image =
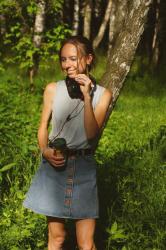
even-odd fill
[{"label": "woman's lowered arm at left, from shoulder to hand", "polygon": [[63,159],[58,159],[54,154],[54,150],[48,147],[48,126],[52,115],[53,98],[56,91],[56,84],[49,83],[43,95],[43,110],[38,129],[38,143],[42,155],[54,166],[61,166]]}]

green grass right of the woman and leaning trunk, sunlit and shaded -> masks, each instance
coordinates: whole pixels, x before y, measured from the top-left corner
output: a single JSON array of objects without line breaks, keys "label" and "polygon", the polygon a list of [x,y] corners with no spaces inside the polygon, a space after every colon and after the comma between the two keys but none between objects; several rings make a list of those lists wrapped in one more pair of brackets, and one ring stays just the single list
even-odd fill
[{"label": "green grass right of the woman and leaning trunk, sunlit and shaded", "polygon": [[129,76],[100,140],[101,249],[165,249],[164,87],[147,75]]}]

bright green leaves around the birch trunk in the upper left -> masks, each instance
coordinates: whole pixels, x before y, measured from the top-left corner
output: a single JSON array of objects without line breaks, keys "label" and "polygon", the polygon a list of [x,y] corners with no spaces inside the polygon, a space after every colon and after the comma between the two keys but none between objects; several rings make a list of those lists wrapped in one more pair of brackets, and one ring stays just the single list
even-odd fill
[{"label": "bright green leaves around the birch trunk in the upper left", "polygon": [[[34,21],[37,13],[36,1],[2,1],[0,13],[6,13],[10,18],[6,23],[6,32],[2,36],[1,53],[6,63],[18,63],[20,68],[30,69],[35,65],[34,56],[40,60],[57,59],[60,42],[70,33],[67,24],[57,18],[62,8],[62,1],[48,1],[47,15],[51,15],[54,26],[48,26],[41,34],[40,48],[33,42]],[[11,15],[11,9],[13,9]]]}]

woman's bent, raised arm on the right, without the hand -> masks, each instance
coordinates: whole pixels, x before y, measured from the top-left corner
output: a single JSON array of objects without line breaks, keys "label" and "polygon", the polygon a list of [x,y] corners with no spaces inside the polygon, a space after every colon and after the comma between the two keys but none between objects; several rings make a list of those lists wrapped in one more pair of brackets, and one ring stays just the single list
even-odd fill
[{"label": "woman's bent, raised arm on the right, without the hand", "polygon": [[84,95],[84,126],[89,140],[99,133],[111,100],[112,93],[105,89],[94,111],[91,96],[89,94]]}]

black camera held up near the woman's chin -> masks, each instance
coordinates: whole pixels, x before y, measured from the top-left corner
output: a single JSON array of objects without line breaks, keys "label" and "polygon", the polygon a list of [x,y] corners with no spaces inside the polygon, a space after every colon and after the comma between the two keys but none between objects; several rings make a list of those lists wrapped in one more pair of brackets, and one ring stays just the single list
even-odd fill
[{"label": "black camera held up near the woman's chin", "polygon": [[[91,93],[90,95],[93,96],[93,93],[96,89],[96,80],[94,77],[89,76],[89,78],[91,79],[92,83],[93,83],[93,87],[91,89]],[[84,99],[83,94],[80,90],[80,85],[78,84],[78,82],[76,80],[74,80],[73,78],[69,78],[68,76],[66,77],[66,86],[67,86],[67,90],[69,93],[69,96],[72,99]]]}]

